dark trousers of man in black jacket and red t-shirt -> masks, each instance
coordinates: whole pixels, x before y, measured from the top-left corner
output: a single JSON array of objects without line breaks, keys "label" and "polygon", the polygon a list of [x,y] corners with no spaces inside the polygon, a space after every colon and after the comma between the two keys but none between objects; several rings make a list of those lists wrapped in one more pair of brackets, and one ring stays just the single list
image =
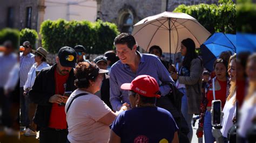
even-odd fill
[{"label": "dark trousers of man in black jacket and red t-shirt", "polygon": [[40,128],[40,143],[66,143],[68,130],[55,130],[53,128]]}]

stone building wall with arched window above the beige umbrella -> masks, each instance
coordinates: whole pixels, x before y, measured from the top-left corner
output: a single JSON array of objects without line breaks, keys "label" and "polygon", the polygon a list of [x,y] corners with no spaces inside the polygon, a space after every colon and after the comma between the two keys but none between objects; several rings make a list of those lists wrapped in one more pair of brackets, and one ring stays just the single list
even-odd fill
[{"label": "stone building wall with arched window above the beige umbrella", "polygon": [[120,32],[132,32],[132,25],[145,17],[173,11],[178,5],[217,4],[218,0],[97,0],[98,19],[117,24]]}]

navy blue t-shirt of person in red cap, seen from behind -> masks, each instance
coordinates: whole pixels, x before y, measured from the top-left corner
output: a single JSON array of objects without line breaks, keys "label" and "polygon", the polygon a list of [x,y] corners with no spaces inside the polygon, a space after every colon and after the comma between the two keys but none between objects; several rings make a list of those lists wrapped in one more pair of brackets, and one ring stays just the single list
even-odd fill
[{"label": "navy blue t-shirt of person in red cap, seen from behind", "polygon": [[121,138],[121,142],[172,142],[178,127],[169,111],[145,107],[120,113],[111,130]]}]

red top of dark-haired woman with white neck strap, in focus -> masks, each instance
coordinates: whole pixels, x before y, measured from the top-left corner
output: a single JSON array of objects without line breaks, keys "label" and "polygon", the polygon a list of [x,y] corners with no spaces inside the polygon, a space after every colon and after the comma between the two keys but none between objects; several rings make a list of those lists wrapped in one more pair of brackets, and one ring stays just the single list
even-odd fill
[{"label": "red top of dark-haired woman with white neck strap, in focus", "polygon": [[[227,81],[219,81],[218,80],[218,82],[219,82],[221,88],[220,88],[220,90],[217,90],[217,91],[215,90],[215,99],[221,101],[221,108],[223,109],[224,105],[225,105],[225,102],[226,102]],[[212,101],[213,101],[213,92],[212,92],[212,90],[208,90],[207,99],[208,99],[207,107],[211,107],[212,106]]]}]

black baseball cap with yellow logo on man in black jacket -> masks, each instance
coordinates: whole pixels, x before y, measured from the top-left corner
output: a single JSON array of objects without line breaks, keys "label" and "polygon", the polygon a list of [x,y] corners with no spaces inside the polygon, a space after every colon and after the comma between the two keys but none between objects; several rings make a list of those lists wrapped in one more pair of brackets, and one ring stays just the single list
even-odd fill
[{"label": "black baseball cap with yellow logo on man in black jacket", "polygon": [[76,67],[76,51],[68,46],[59,49],[58,57],[60,65],[63,67]]}]

